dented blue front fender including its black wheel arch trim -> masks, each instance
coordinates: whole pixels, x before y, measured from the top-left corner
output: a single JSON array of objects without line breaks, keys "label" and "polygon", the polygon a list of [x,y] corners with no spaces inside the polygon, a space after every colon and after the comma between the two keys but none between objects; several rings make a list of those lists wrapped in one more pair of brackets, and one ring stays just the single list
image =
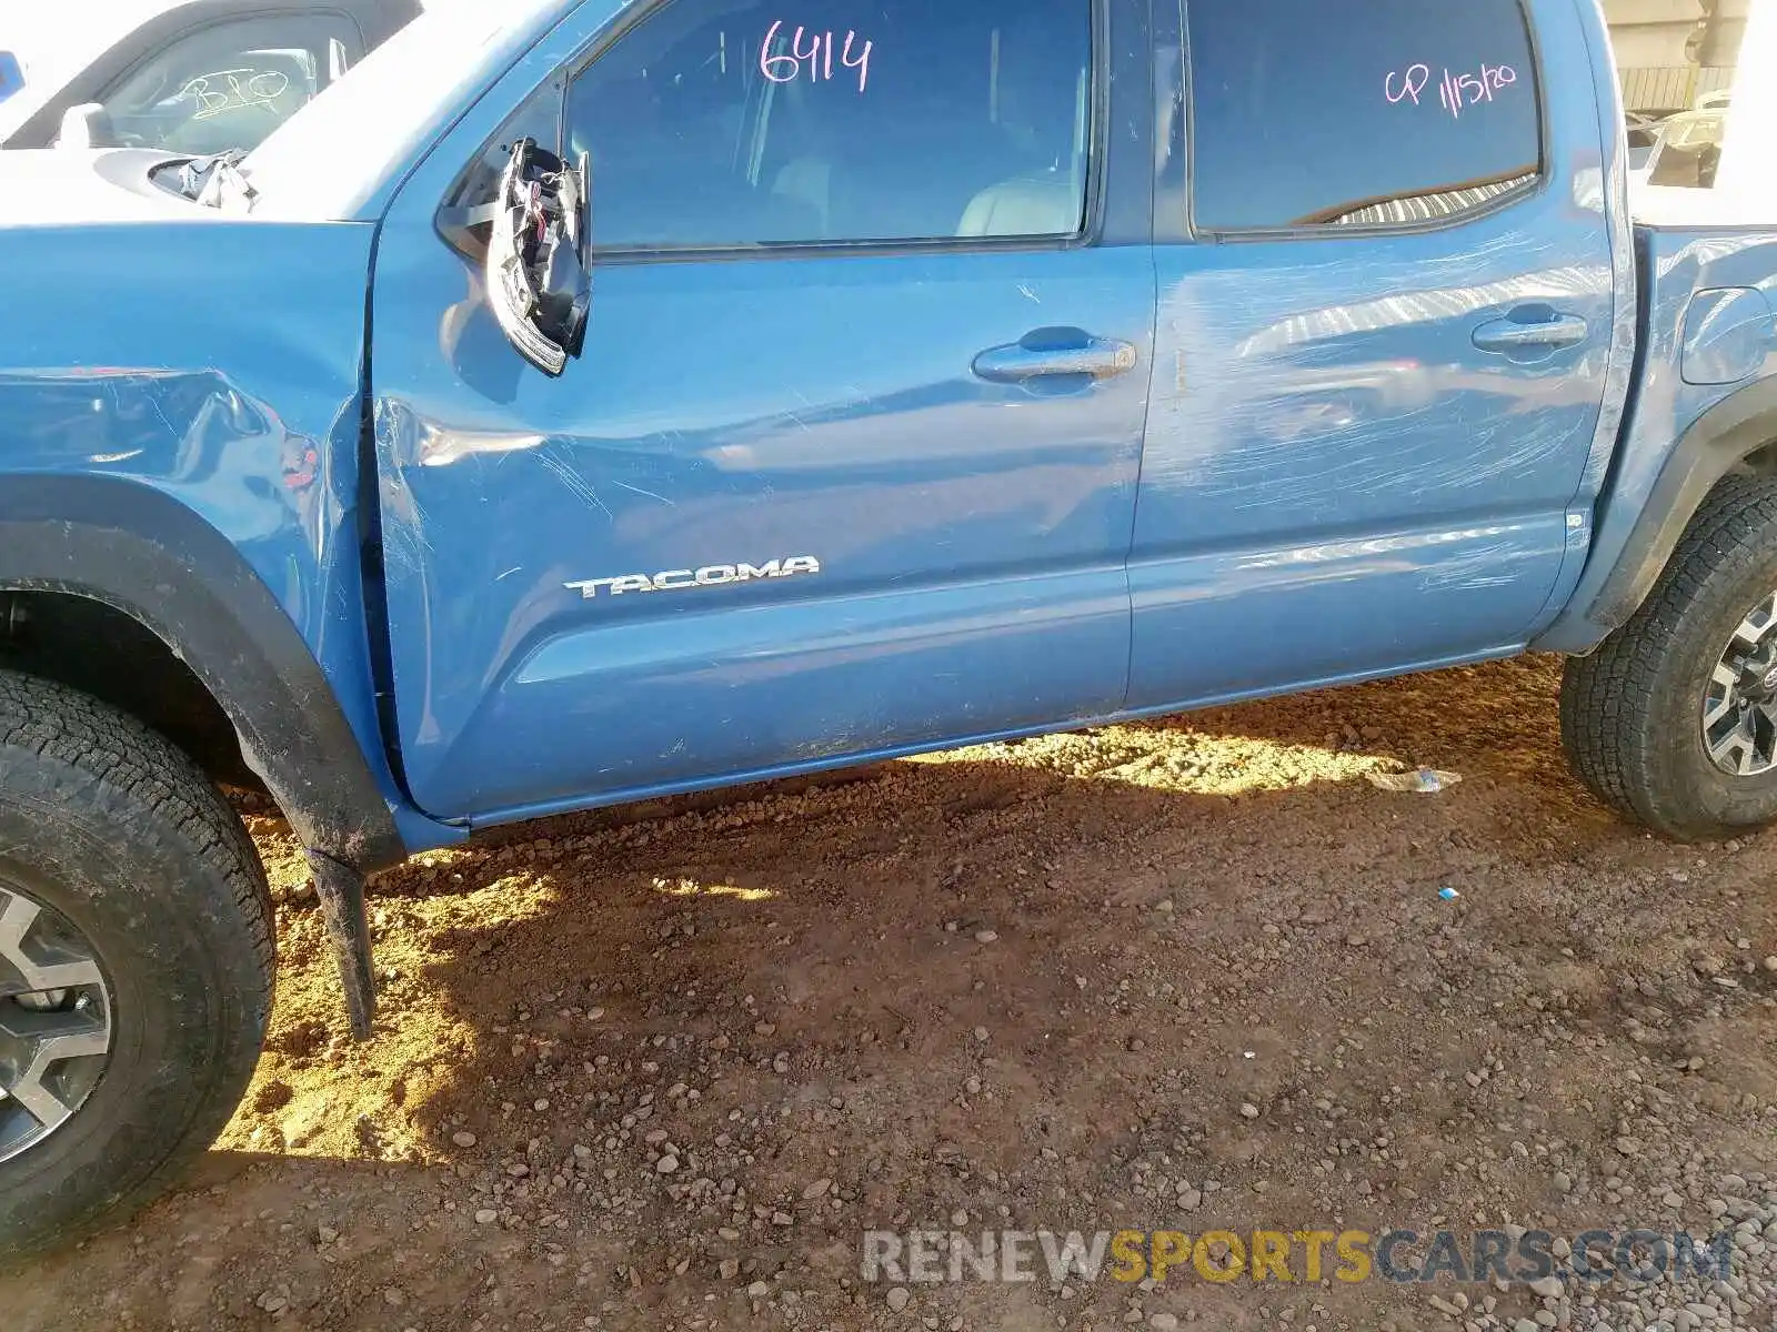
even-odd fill
[{"label": "dented blue front fender including its black wheel arch trim", "polygon": [[0,588],[153,629],[304,844],[359,868],[451,840],[405,808],[375,712],[370,242],[350,224],[9,227],[23,316],[0,325]]}]

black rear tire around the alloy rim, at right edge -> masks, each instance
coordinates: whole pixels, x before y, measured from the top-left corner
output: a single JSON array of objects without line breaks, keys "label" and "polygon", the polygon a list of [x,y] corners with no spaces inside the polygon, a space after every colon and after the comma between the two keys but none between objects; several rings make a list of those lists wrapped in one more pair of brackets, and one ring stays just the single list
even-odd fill
[{"label": "black rear tire around the alloy rim, at right edge", "polygon": [[1704,741],[1711,673],[1749,609],[1773,593],[1777,480],[1729,476],[1642,607],[1564,671],[1562,746],[1606,805],[1681,842],[1777,821],[1777,769],[1731,774]]}]

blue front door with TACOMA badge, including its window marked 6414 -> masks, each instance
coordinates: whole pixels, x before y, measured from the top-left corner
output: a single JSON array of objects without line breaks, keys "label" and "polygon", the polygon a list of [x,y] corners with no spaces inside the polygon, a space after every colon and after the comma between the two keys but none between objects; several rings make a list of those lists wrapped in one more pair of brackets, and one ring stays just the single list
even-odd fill
[{"label": "blue front door with TACOMA badge, including its window marked 6414", "polygon": [[435,226],[487,126],[434,153],[382,231],[371,362],[423,808],[1121,703],[1153,329],[1137,9],[673,0],[588,30],[489,155],[560,119],[590,158],[592,318],[558,380]]}]

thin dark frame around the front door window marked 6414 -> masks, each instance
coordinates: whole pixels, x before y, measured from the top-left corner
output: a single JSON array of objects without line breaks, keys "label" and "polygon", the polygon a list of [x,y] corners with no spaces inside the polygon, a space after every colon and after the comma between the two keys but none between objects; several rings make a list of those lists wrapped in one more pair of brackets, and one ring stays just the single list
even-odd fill
[{"label": "thin dark frame around the front door window marked 6414", "polygon": [[[562,85],[562,101],[556,108],[556,151],[567,140],[567,98],[576,78],[601,60],[617,43],[641,23],[659,14],[673,4],[695,4],[697,0],[652,0],[652,4],[633,5],[617,23],[604,28],[569,60],[562,64],[551,82]],[[956,252],[1059,252],[1098,245],[1105,229],[1105,211],[1109,197],[1111,167],[1111,5],[1125,0],[1086,0],[1091,5],[1091,126],[1086,147],[1086,208],[1082,226],[1068,236],[931,236],[913,240],[819,240],[819,242],[753,242],[743,245],[624,245],[601,249],[597,243],[599,227],[599,179],[594,176],[588,194],[592,195],[592,231],[594,266],[629,266],[656,263],[709,263],[736,259],[832,259],[832,258],[878,258],[878,256],[915,256],[915,254],[956,254]],[[547,83],[538,85],[542,91]],[[535,96],[535,92],[531,94]],[[530,98],[526,98],[530,101]],[[494,135],[498,140],[499,135]],[[487,147],[494,142],[489,140]],[[480,160],[480,155],[476,156]],[[469,163],[473,167],[473,162]]]}]

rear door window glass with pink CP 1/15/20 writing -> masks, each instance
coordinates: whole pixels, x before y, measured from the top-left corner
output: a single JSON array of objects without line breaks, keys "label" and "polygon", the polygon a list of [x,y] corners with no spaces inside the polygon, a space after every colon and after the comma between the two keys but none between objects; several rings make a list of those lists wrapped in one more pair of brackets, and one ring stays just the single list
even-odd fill
[{"label": "rear door window glass with pink CP 1/15/20 writing", "polygon": [[1461,220],[1541,178],[1518,0],[1187,0],[1187,39],[1198,231]]}]

